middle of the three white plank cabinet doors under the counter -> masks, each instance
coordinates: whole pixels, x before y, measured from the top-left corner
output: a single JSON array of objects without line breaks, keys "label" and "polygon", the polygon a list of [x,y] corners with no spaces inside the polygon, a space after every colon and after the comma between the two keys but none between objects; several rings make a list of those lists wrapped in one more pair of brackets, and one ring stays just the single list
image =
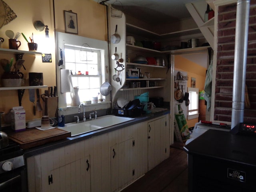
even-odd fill
[{"label": "middle of the three white plank cabinet doors under the counter", "polygon": [[134,139],[131,138],[110,148],[111,191],[118,191],[134,177]]}]

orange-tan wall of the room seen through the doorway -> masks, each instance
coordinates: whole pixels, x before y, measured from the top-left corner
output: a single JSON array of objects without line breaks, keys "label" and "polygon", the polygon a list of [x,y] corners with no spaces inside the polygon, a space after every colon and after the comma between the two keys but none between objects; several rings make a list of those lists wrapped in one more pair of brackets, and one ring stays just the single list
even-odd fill
[{"label": "orange-tan wall of the room seen through the doorway", "polygon": [[[204,82],[206,76],[206,68],[183,58],[175,56],[175,70],[182,70],[188,73],[188,87],[191,87],[191,77],[196,78],[196,88],[204,90]],[[198,118],[187,120],[188,127],[193,127],[198,122]]]}]

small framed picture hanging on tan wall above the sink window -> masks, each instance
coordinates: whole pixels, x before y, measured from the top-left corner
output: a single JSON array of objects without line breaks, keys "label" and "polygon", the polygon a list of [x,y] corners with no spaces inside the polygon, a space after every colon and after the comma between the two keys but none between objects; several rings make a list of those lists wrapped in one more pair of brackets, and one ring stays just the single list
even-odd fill
[{"label": "small framed picture hanging on tan wall above the sink window", "polygon": [[65,32],[78,34],[77,26],[77,14],[73,13],[72,10],[64,10],[64,22],[65,22]]}]

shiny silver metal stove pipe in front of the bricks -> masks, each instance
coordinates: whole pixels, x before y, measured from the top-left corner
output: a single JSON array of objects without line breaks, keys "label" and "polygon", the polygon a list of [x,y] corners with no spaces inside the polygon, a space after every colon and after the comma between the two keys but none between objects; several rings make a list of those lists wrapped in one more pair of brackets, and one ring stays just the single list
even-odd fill
[{"label": "shiny silver metal stove pipe in front of the bricks", "polygon": [[231,129],[244,121],[249,11],[250,0],[237,1]]}]

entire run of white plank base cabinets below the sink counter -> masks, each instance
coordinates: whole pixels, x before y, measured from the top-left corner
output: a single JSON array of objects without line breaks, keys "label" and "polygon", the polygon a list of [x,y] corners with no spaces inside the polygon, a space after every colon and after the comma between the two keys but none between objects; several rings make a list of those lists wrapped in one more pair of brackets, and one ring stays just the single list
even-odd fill
[{"label": "entire run of white plank base cabinets below the sink counter", "polygon": [[168,115],[26,158],[28,191],[122,190],[168,158]]}]

